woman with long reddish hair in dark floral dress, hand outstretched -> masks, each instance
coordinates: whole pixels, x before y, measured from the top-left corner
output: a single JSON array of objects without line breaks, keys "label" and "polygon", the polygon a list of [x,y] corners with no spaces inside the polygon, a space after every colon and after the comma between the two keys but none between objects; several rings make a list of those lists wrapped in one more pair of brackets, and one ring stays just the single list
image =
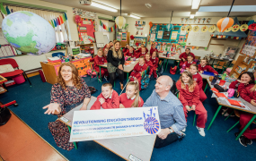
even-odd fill
[{"label": "woman with long reddish hair in dark floral dress, hand outstretched", "polygon": [[[43,109],[48,108],[44,114],[57,114],[57,117],[61,117],[76,106],[81,106],[80,110],[86,110],[90,99],[90,89],[78,76],[75,65],[64,63],[59,67],[57,83],[52,86],[50,104],[43,107]],[[66,150],[74,148],[74,144],[69,142],[70,134],[64,123],[58,120],[50,122],[49,131],[57,147]]]}]

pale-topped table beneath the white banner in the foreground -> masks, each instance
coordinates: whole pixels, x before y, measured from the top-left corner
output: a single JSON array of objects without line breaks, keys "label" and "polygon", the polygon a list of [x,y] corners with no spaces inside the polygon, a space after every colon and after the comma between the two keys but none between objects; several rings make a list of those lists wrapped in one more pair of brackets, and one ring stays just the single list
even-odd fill
[{"label": "pale-topped table beneath the white banner in the foreground", "polygon": [[[93,106],[93,103],[96,100],[96,97],[91,97],[87,110],[90,110],[91,106]],[[70,127],[72,127],[74,111],[78,111],[80,108],[81,106],[76,106],[74,109],[58,118],[58,120],[65,123],[70,129]],[[62,121],[63,117],[67,119],[68,122]],[[141,160],[150,160],[154,148],[155,137],[156,135],[146,135],[93,141],[102,145],[104,148],[108,148],[111,152],[124,158],[125,160],[128,160],[130,155]]]}]

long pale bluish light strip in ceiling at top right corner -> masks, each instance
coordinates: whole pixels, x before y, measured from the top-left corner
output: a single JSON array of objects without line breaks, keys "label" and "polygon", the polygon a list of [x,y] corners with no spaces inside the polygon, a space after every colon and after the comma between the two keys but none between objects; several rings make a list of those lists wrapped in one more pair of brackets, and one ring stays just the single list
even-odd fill
[{"label": "long pale bluish light strip in ceiling at top right corner", "polygon": [[[200,6],[199,12],[229,12],[230,5]],[[231,12],[256,12],[256,5],[233,5]]]}]

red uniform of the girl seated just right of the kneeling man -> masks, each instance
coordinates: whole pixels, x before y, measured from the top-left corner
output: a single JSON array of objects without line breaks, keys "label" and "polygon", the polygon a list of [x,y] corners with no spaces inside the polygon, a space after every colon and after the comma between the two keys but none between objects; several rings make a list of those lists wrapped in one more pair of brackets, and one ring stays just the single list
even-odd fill
[{"label": "red uniform of the girl seated just right of the kneeling man", "polygon": [[181,80],[176,83],[177,89],[180,90],[180,100],[183,105],[186,121],[188,117],[188,111],[185,106],[196,106],[195,113],[198,114],[197,126],[199,128],[205,128],[207,123],[207,110],[199,100],[199,86],[196,85],[194,91],[189,91],[189,86],[186,85],[186,89],[181,89]]}]

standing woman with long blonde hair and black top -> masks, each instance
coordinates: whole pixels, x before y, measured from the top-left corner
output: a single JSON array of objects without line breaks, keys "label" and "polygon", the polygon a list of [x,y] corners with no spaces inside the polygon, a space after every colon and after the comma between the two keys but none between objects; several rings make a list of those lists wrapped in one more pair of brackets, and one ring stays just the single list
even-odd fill
[{"label": "standing woman with long blonde hair and black top", "polygon": [[123,65],[125,64],[124,54],[120,49],[120,42],[116,41],[112,50],[109,50],[107,56],[107,68],[110,74],[110,83],[114,86],[114,81],[116,79],[116,72],[119,74],[120,80],[120,88],[124,88],[124,68]]}]

